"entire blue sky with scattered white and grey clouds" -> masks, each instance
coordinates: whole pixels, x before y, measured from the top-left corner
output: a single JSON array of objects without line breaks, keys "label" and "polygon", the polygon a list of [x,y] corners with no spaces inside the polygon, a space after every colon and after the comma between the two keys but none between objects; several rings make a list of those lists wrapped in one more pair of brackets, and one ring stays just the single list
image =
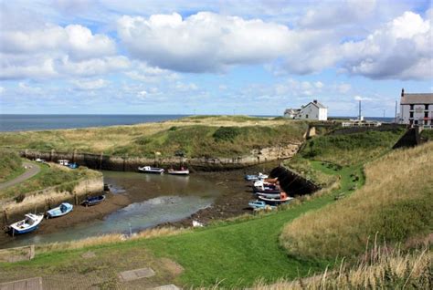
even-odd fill
[{"label": "entire blue sky with scattered white and grey clouds", "polygon": [[0,0],[0,114],[394,117],[433,91],[431,0]]}]

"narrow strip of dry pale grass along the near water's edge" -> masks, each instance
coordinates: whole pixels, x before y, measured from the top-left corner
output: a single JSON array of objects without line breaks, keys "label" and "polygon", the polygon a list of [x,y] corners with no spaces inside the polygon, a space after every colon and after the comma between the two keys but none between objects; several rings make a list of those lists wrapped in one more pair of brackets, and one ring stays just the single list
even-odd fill
[{"label": "narrow strip of dry pale grass along the near water's edge", "polygon": [[111,243],[122,243],[125,241],[151,239],[154,237],[175,235],[179,233],[186,233],[187,231],[190,230],[183,228],[163,227],[144,230],[140,233],[133,233],[132,236],[121,233],[110,233],[70,242],[42,243],[37,245],[36,250],[38,254],[65,250],[76,250],[92,246],[102,246]]}]

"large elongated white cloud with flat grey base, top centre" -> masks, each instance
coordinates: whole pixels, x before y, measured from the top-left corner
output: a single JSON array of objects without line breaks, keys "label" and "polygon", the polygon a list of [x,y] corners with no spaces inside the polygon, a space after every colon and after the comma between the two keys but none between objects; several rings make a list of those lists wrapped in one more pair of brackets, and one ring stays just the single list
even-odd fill
[{"label": "large elongated white cloud with flat grey base, top centre", "polygon": [[279,57],[289,45],[290,30],[259,19],[200,12],[185,19],[176,13],[123,16],[118,33],[133,57],[152,66],[215,72]]}]

